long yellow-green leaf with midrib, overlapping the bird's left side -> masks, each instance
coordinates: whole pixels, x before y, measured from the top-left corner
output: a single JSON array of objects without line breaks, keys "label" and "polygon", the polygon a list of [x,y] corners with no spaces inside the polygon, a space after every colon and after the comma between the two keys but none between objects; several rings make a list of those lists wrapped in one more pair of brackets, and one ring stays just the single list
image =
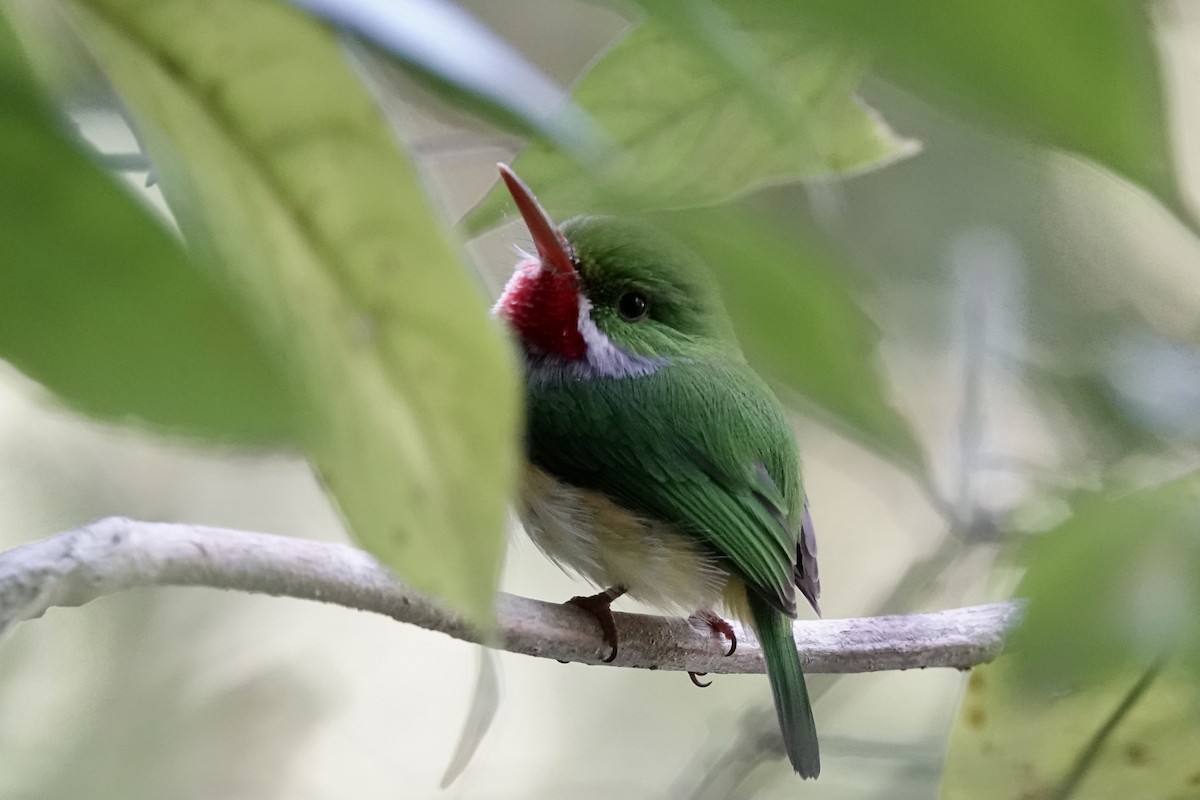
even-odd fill
[{"label": "long yellow-green leaf with midrib, overlapping the bird's left side", "polygon": [[336,35],[271,0],[76,7],[163,181],[186,181],[181,217],[286,359],[301,441],[354,536],[486,624],[514,357]]}]

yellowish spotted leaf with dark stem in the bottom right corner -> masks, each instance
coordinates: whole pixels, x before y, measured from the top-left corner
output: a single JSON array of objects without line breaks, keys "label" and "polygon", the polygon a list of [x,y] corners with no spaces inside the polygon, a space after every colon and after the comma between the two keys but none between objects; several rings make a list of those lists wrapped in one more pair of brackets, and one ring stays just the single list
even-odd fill
[{"label": "yellowish spotted leaf with dark stem in the bottom right corner", "polygon": [[[1086,687],[1034,688],[1008,657],[971,670],[942,800],[1168,800],[1200,795],[1200,685],[1168,668]],[[1141,690],[1136,692],[1136,690]],[[1136,693],[1135,693],[1136,692]],[[1129,703],[1132,702],[1132,705]],[[1127,711],[1116,718],[1126,704]],[[1081,764],[1102,727],[1116,718]],[[1064,782],[1084,766],[1074,790]]]}]

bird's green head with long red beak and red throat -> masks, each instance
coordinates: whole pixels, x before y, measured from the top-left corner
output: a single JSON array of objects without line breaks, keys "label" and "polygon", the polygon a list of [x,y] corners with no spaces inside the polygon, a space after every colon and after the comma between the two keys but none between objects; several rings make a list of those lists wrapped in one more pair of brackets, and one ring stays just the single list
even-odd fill
[{"label": "bird's green head with long red beak and red throat", "polygon": [[508,167],[500,174],[538,249],[496,306],[528,361],[625,377],[679,359],[740,357],[712,276],[682,245],[619,217],[559,229]]}]

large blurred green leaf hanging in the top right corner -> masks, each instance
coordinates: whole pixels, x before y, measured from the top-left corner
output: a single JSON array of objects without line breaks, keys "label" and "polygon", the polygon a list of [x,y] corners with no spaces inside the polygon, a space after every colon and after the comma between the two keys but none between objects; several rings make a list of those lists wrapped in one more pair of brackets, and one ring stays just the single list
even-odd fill
[{"label": "large blurred green leaf hanging in the top right corner", "polygon": [[1180,210],[1150,4],[768,4],[866,43],[877,71],[985,126],[1092,158]]}]

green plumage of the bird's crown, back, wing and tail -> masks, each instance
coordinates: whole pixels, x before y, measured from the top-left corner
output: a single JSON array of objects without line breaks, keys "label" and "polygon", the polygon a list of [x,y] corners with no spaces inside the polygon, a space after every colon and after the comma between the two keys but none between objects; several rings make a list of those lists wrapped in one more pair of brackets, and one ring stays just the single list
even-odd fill
[{"label": "green plumage of the bird's crown, back, wing and tail", "polygon": [[[792,428],[686,249],[611,217],[572,219],[563,234],[596,330],[653,368],[588,372],[530,354],[528,458],[637,518],[667,523],[713,555],[731,588],[744,584],[787,753],[815,777],[817,738],[791,618],[797,588],[815,606],[818,584]],[[619,313],[629,291],[648,301],[636,321]]]}]

